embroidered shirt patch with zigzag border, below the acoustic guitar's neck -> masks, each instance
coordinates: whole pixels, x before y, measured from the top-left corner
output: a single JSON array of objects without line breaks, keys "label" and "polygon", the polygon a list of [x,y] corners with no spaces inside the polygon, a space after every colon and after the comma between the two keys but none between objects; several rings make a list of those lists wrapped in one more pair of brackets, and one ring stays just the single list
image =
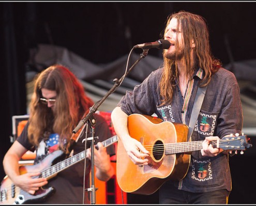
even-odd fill
[{"label": "embroidered shirt patch with zigzag border, below the acoustic guitar's neck", "polygon": [[210,159],[204,161],[192,159],[191,178],[200,182],[213,179]]}]

